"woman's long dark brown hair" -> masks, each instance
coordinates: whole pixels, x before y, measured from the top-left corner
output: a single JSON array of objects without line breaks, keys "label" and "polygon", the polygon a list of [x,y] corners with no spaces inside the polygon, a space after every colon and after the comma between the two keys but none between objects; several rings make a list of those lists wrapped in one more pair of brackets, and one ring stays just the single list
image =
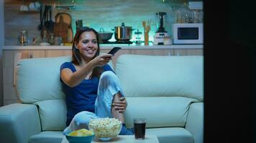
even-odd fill
[{"label": "woman's long dark brown hair", "polygon": [[[93,59],[96,56],[99,56],[99,53],[100,53],[100,47],[99,47],[100,37],[99,37],[98,32],[96,30],[90,28],[90,27],[86,27],[86,26],[81,27],[80,29],[78,29],[76,31],[76,35],[74,37],[73,46],[72,46],[72,63],[76,64],[76,65],[82,64],[82,58],[81,58],[80,51],[78,49],[76,49],[76,45],[75,44],[78,44],[78,42],[79,42],[79,40],[81,38],[81,34],[83,34],[83,32],[85,32],[85,31],[93,31],[93,33],[96,35],[96,41],[97,41],[97,44],[98,44],[98,50],[97,50],[95,56],[93,56]],[[99,78],[101,76],[102,72],[103,72],[103,68],[102,67],[96,67],[96,68],[93,69],[93,73],[91,74],[91,77],[98,77]]]}]

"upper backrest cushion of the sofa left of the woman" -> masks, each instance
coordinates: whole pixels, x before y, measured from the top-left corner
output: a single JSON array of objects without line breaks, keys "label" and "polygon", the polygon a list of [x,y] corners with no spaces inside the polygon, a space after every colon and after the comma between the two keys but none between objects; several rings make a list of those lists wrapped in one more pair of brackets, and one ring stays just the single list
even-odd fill
[{"label": "upper backrest cushion of the sofa left of the woman", "polygon": [[70,56],[22,59],[18,64],[17,95],[22,103],[63,99],[60,65]]}]

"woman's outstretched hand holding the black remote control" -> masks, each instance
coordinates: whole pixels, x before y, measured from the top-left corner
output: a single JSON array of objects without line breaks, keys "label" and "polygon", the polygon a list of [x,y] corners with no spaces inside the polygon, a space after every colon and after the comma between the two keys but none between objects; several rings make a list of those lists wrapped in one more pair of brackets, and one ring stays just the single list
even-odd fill
[{"label": "woman's outstretched hand holding the black remote control", "polygon": [[112,54],[101,54],[99,56],[96,56],[94,59],[91,60],[91,63],[94,67],[96,66],[104,66],[111,60]]}]

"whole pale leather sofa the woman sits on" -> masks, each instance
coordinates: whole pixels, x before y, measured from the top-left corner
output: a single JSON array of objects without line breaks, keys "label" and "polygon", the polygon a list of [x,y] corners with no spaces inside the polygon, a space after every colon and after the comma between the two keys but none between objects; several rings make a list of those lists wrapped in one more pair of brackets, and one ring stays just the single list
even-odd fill
[{"label": "whole pale leather sofa the woman sits on", "polygon": [[[17,70],[21,103],[0,107],[3,143],[58,143],[66,107],[60,64],[70,57],[22,59]],[[204,142],[203,56],[123,54],[116,61],[128,107],[125,120],[147,118],[146,134],[160,143]]]}]

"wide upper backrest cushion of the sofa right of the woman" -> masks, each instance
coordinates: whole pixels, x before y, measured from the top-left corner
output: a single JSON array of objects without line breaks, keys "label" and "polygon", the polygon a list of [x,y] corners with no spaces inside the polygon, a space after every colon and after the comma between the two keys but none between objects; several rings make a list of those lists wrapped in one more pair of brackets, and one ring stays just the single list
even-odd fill
[{"label": "wide upper backrest cushion of the sofa right of the woman", "polygon": [[122,54],[115,71],[126,97],[204,99],[203,56]]}]

